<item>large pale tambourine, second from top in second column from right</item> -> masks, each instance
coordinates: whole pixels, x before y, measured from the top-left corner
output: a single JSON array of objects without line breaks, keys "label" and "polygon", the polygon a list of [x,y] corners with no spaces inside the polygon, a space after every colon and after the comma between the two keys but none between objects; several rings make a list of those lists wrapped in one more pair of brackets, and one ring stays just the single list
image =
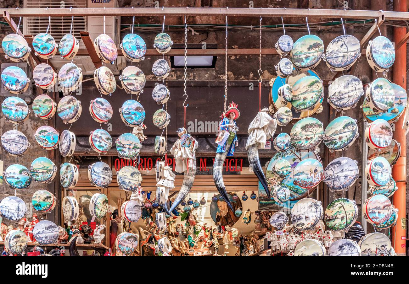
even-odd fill
[{"label": "large pale tambourine, second from top in second column from right", "polygon": [[328,103],[336,111],[345,111],[356,106],[364,94],[361,80],[353,75],[344,75],[328,86]]}]

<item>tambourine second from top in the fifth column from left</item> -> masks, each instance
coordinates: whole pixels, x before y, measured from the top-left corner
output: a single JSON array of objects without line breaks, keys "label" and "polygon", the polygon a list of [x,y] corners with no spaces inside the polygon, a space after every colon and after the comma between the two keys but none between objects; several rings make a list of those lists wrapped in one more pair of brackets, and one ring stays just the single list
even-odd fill
[{"label": "tambourine second from top in the fifth column from left", "polygon": [[122,70],[119,76],[122,87],[128,94],[139,94],[144,92],[146,77],[144,72],[136,66],[128,66]]}]

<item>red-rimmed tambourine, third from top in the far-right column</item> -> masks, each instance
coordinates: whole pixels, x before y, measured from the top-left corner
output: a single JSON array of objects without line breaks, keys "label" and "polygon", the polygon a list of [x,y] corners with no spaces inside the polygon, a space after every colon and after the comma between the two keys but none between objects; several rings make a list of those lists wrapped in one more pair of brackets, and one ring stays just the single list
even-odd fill
[{"label": "red-rimmed tambourine, third from top in the far-right column", "polygon": [[392,127],[380,118],[366,126],[365,142],[371,149],[384,149],[391,145],[392,135]]}]

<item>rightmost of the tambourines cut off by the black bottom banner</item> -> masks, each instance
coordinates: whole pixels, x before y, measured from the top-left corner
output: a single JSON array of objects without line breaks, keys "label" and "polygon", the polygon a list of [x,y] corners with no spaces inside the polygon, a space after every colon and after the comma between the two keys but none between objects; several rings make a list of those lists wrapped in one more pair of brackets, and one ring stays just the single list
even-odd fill
[{"label": "rightmost of the tambourines cut off by the black bottom banner", "polygon": [[358,245],[362,256],[393,256],[394,251],[391,240],[382,233],[369,233],[364,235]]}]

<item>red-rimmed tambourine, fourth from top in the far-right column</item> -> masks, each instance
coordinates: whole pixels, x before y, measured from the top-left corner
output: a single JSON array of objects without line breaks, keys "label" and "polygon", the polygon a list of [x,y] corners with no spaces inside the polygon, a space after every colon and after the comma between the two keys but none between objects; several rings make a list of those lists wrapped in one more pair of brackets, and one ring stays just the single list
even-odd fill
[{"label": "red-rimmed tambourine, fourth from top in the far-right column", "polygon": [[388,183],[391,178],[391,165],[383,157],[369,160],[365,167],[366,180],[371,185],[381,186]]}]

